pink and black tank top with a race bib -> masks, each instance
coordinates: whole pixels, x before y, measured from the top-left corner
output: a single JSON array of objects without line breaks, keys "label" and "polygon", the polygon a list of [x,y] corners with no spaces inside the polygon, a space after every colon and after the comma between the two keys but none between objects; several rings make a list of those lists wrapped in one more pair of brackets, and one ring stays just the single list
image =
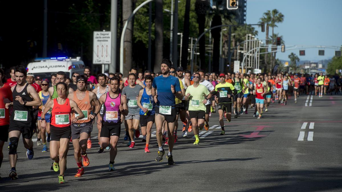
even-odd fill
[{"label": "pink and black tank top with a race bib", "polygon": [[109,92],[106,93],[106,100],[103,103],[104,109],[102,114],[102,123],[104,125],[120,124],[121,112],[119,105],[121,104],[121,93],[116,98],[111,98]]}]

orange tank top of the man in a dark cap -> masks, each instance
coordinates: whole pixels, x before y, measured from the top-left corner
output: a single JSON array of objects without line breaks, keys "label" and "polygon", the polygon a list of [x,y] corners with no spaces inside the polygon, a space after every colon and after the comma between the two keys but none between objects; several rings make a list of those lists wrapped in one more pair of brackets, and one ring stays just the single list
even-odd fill
[{"label": "orange tank top of the man in a dark cap", "polygon": [[[84,118],[78,120],[76,123],[86,123],[86,122],[90,122],[91,119],[88,118],[88,116],[91,113],[91,105],[90,105],[90,100],[89,100],[89,91],[86,91],[86,95],[84,96],[84,98],[82,100],[79,100],[77,98],[76,92],[74,92],[74,97],[73,100],[76,102],[78,108],[81,109],[82,113],[84,114]],[[75,111],[72,116],[73,117],[77,117],[79,114]]]}]

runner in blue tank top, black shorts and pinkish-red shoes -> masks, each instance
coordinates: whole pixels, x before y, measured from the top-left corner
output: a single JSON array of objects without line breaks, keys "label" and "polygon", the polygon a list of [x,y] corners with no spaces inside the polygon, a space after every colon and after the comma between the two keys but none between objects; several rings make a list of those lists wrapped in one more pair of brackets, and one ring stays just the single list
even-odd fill
[{"label": "runner in blue tank top, black shorts and pinkish-red shoes", "polygon": [[143,136],[146,136],[145,153],[149,153],[148,144],[151,139],[151,129],[154,123],[156,104],[152,98],[152,81],[151,75],[146,75],[144,82],[146,87],[139,91],[137,104],[140,107],[140,127]]}]

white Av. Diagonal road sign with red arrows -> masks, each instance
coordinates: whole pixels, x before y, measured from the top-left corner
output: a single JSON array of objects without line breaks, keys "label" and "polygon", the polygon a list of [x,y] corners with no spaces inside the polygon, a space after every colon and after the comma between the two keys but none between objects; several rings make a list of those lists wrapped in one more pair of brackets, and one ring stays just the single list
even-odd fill
[{"label": "white Av. Diagonal road sign with red arrows", "polygon": [[110,64],[111,32],[94,31],[93,64]]}]

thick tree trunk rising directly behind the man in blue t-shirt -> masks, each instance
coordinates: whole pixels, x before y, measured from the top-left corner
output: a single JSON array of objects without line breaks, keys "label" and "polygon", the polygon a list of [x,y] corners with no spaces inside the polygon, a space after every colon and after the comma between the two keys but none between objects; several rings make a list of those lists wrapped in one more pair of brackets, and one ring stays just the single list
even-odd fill
[{"label": "thick tree trunk rising directly behind the man in blue t-shirt", "polygon": [[[126,1],[126,0],[124,0]],[[123,1],[123,2],[124,2]],[[155,60],[154,71],[160,71],[160,62],[163,59],[163,1],[155,2]]]}]

